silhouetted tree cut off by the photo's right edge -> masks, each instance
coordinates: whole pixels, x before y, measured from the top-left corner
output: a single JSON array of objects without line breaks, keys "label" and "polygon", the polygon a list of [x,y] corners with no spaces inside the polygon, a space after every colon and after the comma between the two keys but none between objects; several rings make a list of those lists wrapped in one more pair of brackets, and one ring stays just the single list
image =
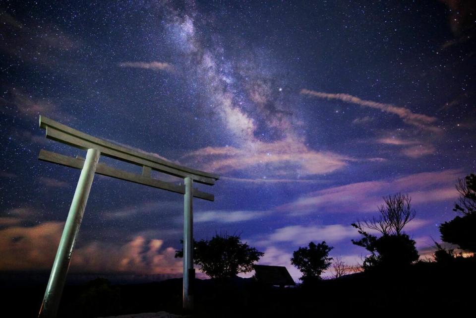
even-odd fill
[{"label": "silhouetted tree cut off by the photo's right edge", "polygon": [[460,197],[453,211],[463,216],[440,225],[441,239],[476,253],[476,176],[470,174],[464,180],[459,179],[456,190]]}]

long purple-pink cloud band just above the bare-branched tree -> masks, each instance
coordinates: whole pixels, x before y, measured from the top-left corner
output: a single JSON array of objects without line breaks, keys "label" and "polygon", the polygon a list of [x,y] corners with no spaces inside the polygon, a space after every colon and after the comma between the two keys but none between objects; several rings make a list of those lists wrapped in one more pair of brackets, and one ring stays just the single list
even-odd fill
[{"label": "long purple-pink cloud band just above the bare-branched tree", "polygon": [[414,204],[444,201],[458,196],[454,185],[461,174],[460,170],[418,173],[313,191],[277,210],[295,214],[373,212],[382,203],[382,196],[395,192],[409,193]]}]

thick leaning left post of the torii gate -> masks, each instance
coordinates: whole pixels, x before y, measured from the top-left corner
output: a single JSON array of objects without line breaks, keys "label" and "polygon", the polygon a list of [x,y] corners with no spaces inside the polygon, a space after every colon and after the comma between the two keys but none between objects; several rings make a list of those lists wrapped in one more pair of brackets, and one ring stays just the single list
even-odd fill
[{"label": "thick leaning left post of the torii gate", "polygon": [[58,313],[61,294],[66,281],[69,262],[71,261],[71,254],[83,218],[84,208],[88,201],[89,191],[91,190],[100,154],[100,151],[97,149],[88,149],[86,160],[84,161],[81,175],[79,176],[78,185],[74,192],[73,201],[69,208],[68,218],[64,224],[60,246],[58,247],[55,262],[51,270],[50,280],[48,281],[45,296],[41,304],[40,313],[38,315],[40,318],[55,318]]}]

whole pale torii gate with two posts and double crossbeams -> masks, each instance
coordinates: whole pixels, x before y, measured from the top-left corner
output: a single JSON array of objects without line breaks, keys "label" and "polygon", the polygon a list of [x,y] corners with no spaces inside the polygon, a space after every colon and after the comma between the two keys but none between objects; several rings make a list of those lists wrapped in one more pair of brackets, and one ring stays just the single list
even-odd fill
[{"label": "whole pale torii gate with two posts and double crossbeams", "polygon": [[[142,153],[124,146],[116,145],[104,139],[99,139],[62,125],[54,120],[40,116],[40,127],[46,129],[46,137],[80,149],[87,149],[86,159],[68,157],[55,152],[41,150],[38,159],[57,163],[66,167],[81,169],[78,185],[74,192],[71,207],[61,235],[60,245],[53,263],[50,279],[41,304],[38,317],[55,318],[60,305],[60,298],[66,281],[66,274],[71,260],[71,254],[76,236],[81,225],[84,208],[94,174],[109,176],[137,184],[184,194],[183,199],[183,309],[193,309],[193,290],[190,282],[195,278],[193,269],[193,214],[192,198],[197,197],[213,201],[213,194],[193,189],[193,181],[205,185],[214,185],[218,175],[179,166],[173,162]],[[142,175],[126,172],[98,163],[99,156],[104,155],[132,163],[142,167]],[[184,185],[176,185],[151,178],[151,171],[183,178]]]}]

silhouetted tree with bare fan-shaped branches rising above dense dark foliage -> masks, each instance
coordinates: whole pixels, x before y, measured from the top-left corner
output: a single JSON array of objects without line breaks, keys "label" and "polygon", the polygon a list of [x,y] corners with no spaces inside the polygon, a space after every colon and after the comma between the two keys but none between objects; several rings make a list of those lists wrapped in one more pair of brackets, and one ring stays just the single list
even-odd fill
[{"label": "silhouetted tree with bare fan-shaped branches rising above dense dark foliage", "polygon": [[[379,217],[352,224],[363,236],[360,240],[352,240],[352,243],[371,253],[363,261],[364,270],[401,267],[418,260],[416,242],[403,232],[405,225],[413,220],[416,214],[411,206],[411,197],[397,193],[383,199],[385,204],[378,208]],[[372,235],[366,232],[364,227],[376,230],[382,236]]]}]

